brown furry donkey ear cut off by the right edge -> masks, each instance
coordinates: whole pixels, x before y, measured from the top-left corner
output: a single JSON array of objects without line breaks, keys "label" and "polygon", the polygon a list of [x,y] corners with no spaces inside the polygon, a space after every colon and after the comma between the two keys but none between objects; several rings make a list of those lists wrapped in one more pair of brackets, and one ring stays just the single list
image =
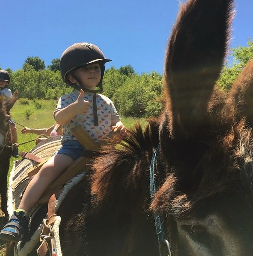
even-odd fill
[{"label": "brown furry donkey ear cut off by the right edge", "polygon": [[230,90],[228,108],[236,110],[236,118],[246,118],[253,125],[253,59],[247,63]]}]

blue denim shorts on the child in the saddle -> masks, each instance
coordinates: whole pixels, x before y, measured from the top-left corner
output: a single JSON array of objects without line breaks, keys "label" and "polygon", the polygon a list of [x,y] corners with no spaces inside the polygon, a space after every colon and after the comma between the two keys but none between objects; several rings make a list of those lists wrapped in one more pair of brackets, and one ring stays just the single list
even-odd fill
[{"label": "blue denim shorts on the child in the saddle", "polygon": [[65,154],[71,157],[73,160],[76,160],[79,157],[81,157],[83,151],[84,147],[79,143],[79,141],[67,140],[62,144],[61,148],[58,151],[56,151],[53,155]]}]

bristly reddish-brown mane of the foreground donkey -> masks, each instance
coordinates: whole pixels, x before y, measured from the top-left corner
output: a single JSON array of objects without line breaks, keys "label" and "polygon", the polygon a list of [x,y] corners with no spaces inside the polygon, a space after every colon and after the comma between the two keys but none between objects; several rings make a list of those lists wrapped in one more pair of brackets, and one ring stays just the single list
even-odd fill
[{"label": "bristly reddish-brown mane of the foreground donkey", "polygon": [[136,124],[128,137],[117,136],[111,145],[102,148],[102,156],[93,164],[92,176],[92,192],[99,201],[113,198],[119,184],[122,188],[141,187],[140,177],[143,172],[149,175],[151,157],[159,143],[158,128],[157,120],[150,119],[145,130]]}]

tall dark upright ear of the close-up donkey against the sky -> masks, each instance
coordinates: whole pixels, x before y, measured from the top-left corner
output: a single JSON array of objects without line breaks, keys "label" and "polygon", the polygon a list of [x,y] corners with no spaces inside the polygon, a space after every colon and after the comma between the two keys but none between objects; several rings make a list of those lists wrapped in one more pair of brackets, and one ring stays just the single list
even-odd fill
[{"label": "tall dark upright ear of the close-up donkey against the sky", "polygon": [[181,6],[165,61],[169,130],[190,137],[207,123],[208,104],[227,52],[233,0],[189,0]]}]

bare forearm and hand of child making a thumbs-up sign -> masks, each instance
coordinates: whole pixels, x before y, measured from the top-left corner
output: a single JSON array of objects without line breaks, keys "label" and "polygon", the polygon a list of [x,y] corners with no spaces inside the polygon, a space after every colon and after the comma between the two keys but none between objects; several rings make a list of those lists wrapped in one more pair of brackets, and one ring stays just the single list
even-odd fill
[{"label": "bare forearm and hand of child making a thumbs-up sign", "polygon": [[89,108],[90,102],[84,100],[84,91],[80,90],[80,94],[75,102],[55,113],[55,121],[59,125],[66,125],[78,113],[85,115],[89,111]]}]

